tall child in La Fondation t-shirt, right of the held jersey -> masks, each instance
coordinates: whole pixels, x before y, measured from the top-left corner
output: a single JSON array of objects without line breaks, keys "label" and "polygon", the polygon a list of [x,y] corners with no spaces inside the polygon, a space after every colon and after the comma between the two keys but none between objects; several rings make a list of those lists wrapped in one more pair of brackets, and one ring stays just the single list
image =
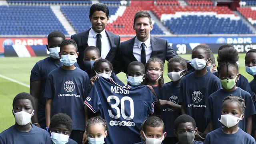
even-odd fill
[{"label": "tall child in La Fondation t-shirt, right of the held jersey", "polygon": [[211,61],[211,49],[207,45],[198,45],[192,50],[191,65],[195,68],[182,78],[180,84],[180,102],[182,113],[192,116],[198,126],[198,134],[202,134],[208,125],[204,111],[208,96],[221,88],[220,80],[210,71],[206,64]]}]

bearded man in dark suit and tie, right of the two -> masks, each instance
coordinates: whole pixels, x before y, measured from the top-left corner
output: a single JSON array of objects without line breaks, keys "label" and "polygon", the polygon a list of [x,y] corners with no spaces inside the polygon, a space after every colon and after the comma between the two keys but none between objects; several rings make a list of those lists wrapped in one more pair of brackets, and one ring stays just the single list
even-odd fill
[{"label": "bearded man in dark suit and tie, right of the two", "polygon": [[151,16],[148,12],[139,11],[135,14],[133,29],[136,31],[136,36],[121,42],[118,72],[127,73],[127,66],[133,61],[146,64],[150,57],[156,56],[165,62],[178,56],[167,40],[150,36],[152,28]]}]

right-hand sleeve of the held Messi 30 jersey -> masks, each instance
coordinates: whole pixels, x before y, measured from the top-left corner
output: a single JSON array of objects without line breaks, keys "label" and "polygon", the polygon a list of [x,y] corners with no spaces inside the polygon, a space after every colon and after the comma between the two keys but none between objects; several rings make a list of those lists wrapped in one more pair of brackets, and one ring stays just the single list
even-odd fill
[{"label": "right-hand sleeve of the held Messi 30 jersey", "polygon": [[148,106],[148,113],[153,114],[154,113],[154,105],[156,102],[156,96],[151,92],[150,89],[146,88],[146,91],[143,96],[144,99],[144,104]]}]

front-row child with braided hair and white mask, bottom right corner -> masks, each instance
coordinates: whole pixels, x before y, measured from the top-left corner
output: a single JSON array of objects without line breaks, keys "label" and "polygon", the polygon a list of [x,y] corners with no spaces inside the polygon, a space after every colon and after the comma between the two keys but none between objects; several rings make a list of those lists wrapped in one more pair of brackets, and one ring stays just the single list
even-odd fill
[{"label": "front-row child with braided hair and white mask, bottom right corner", "polygon": [[238,96],[228,96],[222,104],[220,122],[224,126],[206,135],[204,144],[256,144],[255,139],[238,127],[244,119],[244,100]]}]

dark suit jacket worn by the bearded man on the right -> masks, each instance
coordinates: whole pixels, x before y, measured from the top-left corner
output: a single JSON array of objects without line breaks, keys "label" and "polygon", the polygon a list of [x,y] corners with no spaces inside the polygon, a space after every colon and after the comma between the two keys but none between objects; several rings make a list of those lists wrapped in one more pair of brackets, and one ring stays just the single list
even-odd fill
[{"label": "dark suit jacket worn by the bearded man on the right", "polygon": [[[117,65],[118,68],[116,70],[116,73],[122,71],[127,74],[128,64],[130,64],[130,62],[133,61],[138,61],[133,55],[133,46],[135,38],[136,37],[121,42],[119,50],[120,57],[118,60],[119,64]],[[151,36],[151,45],[152,53],[150,55],[150,58],[156,56],[157,58],[160,58],[163,62],[165,62],[165,60],[168,61],[170,60],[170,58],[178,56],[178,54],[176,54],[173,51],[172,47],[165,39]]]}]

